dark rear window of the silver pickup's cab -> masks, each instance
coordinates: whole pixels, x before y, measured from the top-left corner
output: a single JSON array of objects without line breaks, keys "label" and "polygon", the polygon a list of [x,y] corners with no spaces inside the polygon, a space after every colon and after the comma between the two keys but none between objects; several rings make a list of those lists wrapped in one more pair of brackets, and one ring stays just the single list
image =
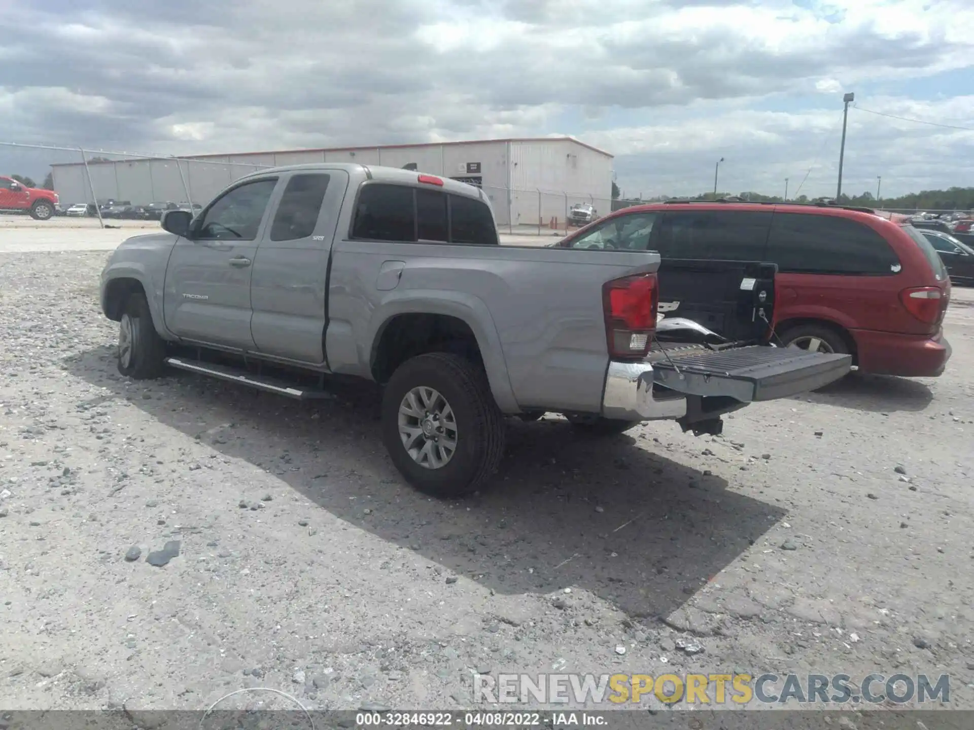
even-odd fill
[{"label": "dark rear window of the silver pickup's cab", "polygon": [[398,242],[498,245],[490,208],[475,198],[408,185],[365,183],[352,237]]}]

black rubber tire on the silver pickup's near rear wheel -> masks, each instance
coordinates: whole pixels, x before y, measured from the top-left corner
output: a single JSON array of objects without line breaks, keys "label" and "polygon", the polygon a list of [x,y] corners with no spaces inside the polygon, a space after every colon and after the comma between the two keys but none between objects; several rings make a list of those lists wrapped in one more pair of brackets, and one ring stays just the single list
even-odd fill
[{"label": "black rubber tire on the silver pickup's near rear wheel", "polygon": [[[438,391],[455,419],[456,447],[452,456],[435,468],[410,456],[399,432],[400,406],[419,387]],[[402,363],[386,385],[382,439],[395,468],[420,492],[438,497],[475,492],[497,470],[504,456],[504,437],[504,417],[491,395],[487,376],[464,357],[445,352],[418,355]],[[425,434],[420,438],[427,443]]]}]

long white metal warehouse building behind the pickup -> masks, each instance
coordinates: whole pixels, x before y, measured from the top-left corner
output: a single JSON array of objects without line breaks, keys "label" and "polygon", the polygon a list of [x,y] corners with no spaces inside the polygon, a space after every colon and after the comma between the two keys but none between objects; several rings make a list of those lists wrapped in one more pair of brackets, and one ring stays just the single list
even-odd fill
[{"label": "long white metal warehouse building behind the pickup", "polygon": [[[305,163],[360,163],[415,168],[478,185],[499,225],[563,225],[568,208],[591,202],[611,210],[613,156],[571,137],[494,139],[380,147],[246,152],[179,158],[120,159],[52,165],[65,203],[117,200],[206,204],[244,175]],[[94,195],[92,189],[94,188]]]}]

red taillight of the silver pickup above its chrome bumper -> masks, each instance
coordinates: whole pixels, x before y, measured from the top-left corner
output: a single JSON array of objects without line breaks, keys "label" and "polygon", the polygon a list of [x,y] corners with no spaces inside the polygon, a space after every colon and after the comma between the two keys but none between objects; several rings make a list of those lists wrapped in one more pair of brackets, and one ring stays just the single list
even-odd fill
[{"label": "red taillight of the silver pickup above its chrome bumper", "polygon": [[602,285],[606,340],[612,357],[646,357],[658,306],[656,274],[623,276]]}]

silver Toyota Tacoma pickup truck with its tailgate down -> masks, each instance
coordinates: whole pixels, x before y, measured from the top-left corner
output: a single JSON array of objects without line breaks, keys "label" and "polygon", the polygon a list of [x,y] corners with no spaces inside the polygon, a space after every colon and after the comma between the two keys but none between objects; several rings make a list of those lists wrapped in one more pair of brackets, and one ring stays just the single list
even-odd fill
[{"label": "silver Toyota Tacoma pickup truck with its tailgate down", "polygon": [[[122,374],[178,368],[297,399],[339,376],[380,383],[393,463],[437,495],[490,478],[505,416],[718,433],[723,414],[850,367],[762,344],[773,265],[668,262],[661,280],[640,231],[614,250],[501,246],[479,189],[415,171],[268,169],[162,228],[123,242],[101,274]],[[660,297],[724,332],[660,321]]]}]

